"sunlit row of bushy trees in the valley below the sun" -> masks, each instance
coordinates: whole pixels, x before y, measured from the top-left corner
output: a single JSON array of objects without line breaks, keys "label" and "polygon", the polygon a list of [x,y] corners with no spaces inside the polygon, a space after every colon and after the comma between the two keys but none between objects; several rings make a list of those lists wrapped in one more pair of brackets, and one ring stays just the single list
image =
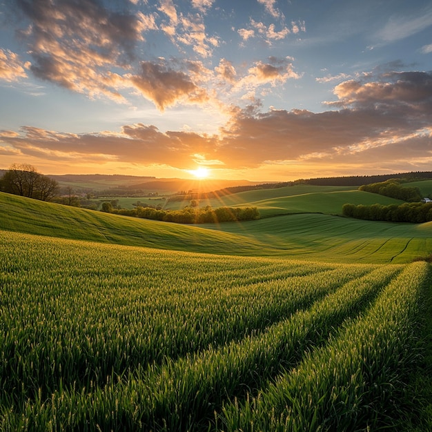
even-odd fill
[{"label": "sunlit row of bushy trees in the valley below the sun", "polygon": [[181,210],[161,210],[153,207],[113,208],[110,202],[102,204],[106,213],[141,217],[177,224],[214,224],[215,222],[238,222],[259,219],[259,210],[256,207],[218,207],[206,206],[203,208],[186,207]]}]

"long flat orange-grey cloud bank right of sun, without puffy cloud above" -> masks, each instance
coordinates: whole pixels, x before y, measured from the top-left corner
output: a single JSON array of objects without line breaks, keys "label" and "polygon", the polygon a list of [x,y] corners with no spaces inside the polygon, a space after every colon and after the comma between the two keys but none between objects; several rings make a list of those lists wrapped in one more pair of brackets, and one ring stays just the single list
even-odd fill
[{"label": "long flat orange-grey cloud bank right of sun, without puffy cloud above", "polygon": [[[239,112],[224,130],[217,157],[230,168],[323,159],[329,165],[362,162],[367,166],[377,148],[382,148],[380,153],[387,161],[421,155],[432,157],[431,136],[420,138],[417,128],[420,125],[409,121],[400,124],[398,119],[353,110],[322,113],[272,110],[255,117]],[[417,142],[415,153],[404,147],[407,135],[410,142]],[[396,146],[398,154],[393,153]]]}]

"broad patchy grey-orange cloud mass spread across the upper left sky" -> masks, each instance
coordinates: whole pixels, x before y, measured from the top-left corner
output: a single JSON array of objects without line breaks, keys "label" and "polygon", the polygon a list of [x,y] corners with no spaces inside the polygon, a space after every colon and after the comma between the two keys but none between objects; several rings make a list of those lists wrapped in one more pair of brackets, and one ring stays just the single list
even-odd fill
[{"label": "broad patchy grey-orange cloud mass spread across the upper left sky", "polygon": [[[141,7],[143,3],[145,8]],[[221,59],[218,66],[204,68],[199,61],[205,59],[210,67],[210,57],[222,43],[219,35],[206,32],[204,15],[213,3],[195,0],[190,13],[184,12],[186,9],[182,13],[173,0],[158,0],[151,6],[146,1],[119,2],[117,8],[113,8],[112,2],[97,0],[17,0],[21,16],[28,23],[19,34],[28,44],[32,61],[22,64],[16,55],[2,50],[0,62],[5,66],[0,69],[0,79],[26,77],[31,72],[43,81],[91,99],[108,97],[126,104],[134,100],[132,90],[133,94],[138,91],[153,101],[159,110],[208,102],[213,108],[224,110],[227,99],[234,94],[237,100],[255,97],[258,86],[274,86],[298,77],[291,61],[286,60],[258,61],[245,70],[244,66]],[[265,4],[269,10],[275,10],[272,2]],[[265,26],[253,19],[250,23],[250,29],[239,30],[244,39],[259,35],[270,43],[291,32],[285,26]],[[149,31],[168,35],[183,59],[147,57],[146,44],[138,44],[145,41]],[[185,60],[186,52],[196,56]],[[200,59],[195,60],[195,66],[194,58]],[[226,88],[222,92],[222,82],[233,86],[233,92],[228,93]]]}]

